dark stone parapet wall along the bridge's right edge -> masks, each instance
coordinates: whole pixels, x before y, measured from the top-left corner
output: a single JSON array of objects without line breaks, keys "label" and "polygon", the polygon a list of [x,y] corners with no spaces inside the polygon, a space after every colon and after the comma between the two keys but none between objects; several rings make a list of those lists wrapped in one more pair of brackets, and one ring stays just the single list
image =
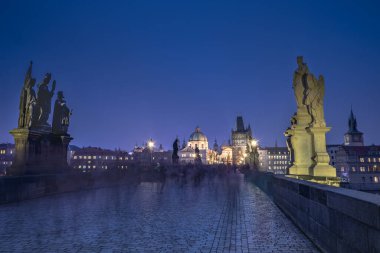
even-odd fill
[{"label": "dark stone parapet wall along the bridge's right edge", "polygon": [[255,182],[324,252],[380,252],[380,195],[261,173]]}]

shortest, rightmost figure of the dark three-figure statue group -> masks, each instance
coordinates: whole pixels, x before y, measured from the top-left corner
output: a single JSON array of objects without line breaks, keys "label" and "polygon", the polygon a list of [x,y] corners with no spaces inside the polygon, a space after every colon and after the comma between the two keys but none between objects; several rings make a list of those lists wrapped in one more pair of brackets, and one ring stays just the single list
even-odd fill
[{"label": "shortest, rightmost figure of the dark three-figure statue group", "polygon": [[72,111],[67,107],[62,91],[58,91],[57,100],[54,104],[53,133],[67,134],[70,125]]}]

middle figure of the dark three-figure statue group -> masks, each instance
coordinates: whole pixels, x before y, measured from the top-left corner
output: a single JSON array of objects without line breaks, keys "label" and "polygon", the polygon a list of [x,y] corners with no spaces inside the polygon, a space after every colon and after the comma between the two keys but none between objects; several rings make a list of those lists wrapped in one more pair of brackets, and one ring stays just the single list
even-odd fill
[{"label": "middle figure of the dark three-figure statue group", "polygon": [[49,126],[48,119],[51,112],[51,99],[55,91],[55,80],[51,90],[49,90],[49,82],[51,80],[51,74],[47,73],[44,77],[42,83],[38,85],[37,93],[37,110],[38,110],[38,125],[40,126]]}]

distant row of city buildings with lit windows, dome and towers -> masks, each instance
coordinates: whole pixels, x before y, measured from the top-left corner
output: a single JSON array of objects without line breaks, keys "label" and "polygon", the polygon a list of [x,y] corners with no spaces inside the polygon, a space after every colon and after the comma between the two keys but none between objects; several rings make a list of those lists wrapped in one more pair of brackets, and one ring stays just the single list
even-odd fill
[{"label": "distant row of city buildings with lit windows, dome and towers", "polygon": [[[252,136],[251,126],[245,127],[241,116],[236,119],[236,128],[231,130],[231,141],[221,146],[215,140],[213,147],[209,148],[207,136],[196,127],[188,141],[184,141],[179,148],[179,162],[194,164],[199,154],[203,164],[244,165],[247,147],[252,141],[256,142]],[[13,144],[0,144],[0,175],[4,175],[6,168],[12,165],[14,150]],[[291,165],[287,147],[275,144],[274,147],[258,146],[257,150],[260,170],[286,174]],[[358,184],[361,188],[366,188],[368,185],[369,189],[380,188],[380,146],[364,145],[363,133],[358,130],[357,120],[352,111],[344,143],[328,145],[327,151],[330,155],[330,164],[337,169],[340,178]],[[156,148],[153,140],[149,140],[143,146],[136,145],[130,152],[75,146],[70,146],[68,152],[68,164],[74,169],[83,171],[126,169],[132,165],[165,165],[172,162],[172,151],[164,150],[162,145]]]}]

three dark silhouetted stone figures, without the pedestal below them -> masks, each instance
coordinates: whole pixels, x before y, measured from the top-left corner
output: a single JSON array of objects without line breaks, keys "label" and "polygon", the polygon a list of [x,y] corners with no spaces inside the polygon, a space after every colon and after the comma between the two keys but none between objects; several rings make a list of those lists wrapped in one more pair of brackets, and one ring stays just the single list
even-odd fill
[{"label": "three dark silhouetted stone figures, without the pedestal below them", "polygon": [[[32,77],[32,62],[25,76],[24,86],[20,95],[20,114],[18,128],[50,129],[48,123],[51,112],[51,100],[54,95],[56,81],[52,83],[51,74],[46,73],[41,83],[37,85],[37,94],[34,91],[36,79]],[[67,107],[62,91],[58,91],[54,104],[52,131],[56,134],[66,134],[70,124],[72,111]]]}]

